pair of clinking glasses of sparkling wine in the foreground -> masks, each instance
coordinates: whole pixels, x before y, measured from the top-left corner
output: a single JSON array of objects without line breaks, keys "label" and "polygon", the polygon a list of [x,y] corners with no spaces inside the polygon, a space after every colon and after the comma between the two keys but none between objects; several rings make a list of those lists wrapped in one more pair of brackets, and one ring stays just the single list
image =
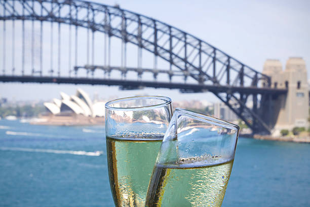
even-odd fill
[{"label": "pair of clinking glasses of sparkling wine in the foreground", "polygon": [[105,130],[115,206],[221,205],[239,126],[139,96],[107,102]]}]

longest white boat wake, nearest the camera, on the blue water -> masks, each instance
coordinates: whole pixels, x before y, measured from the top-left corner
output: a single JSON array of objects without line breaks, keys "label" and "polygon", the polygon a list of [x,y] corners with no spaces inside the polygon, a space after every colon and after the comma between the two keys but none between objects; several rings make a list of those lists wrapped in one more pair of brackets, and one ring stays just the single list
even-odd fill
[{"label": "longest white boat wake, nearest the camera, on the blue water", "polygon": [[0,147],[0,150],[22,151],[22,152],[43,152],[43,153],[54,153],[54,154],[72,154],[72,155],[85,155],[85,156],[100,156],[103,154],[103,151],[86,152],[86,151],[33,149],[33,148],[19,148],[19,147]]}]

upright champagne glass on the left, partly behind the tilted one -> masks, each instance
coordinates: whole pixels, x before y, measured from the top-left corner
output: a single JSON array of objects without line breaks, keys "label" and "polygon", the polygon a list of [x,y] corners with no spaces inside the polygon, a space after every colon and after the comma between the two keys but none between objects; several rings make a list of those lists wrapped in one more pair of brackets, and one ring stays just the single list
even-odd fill
[{"label": "upright champagne glass on the left, partly behind the tilted one", "polygon": [[150,175],[171,116],[171,99],[164,96],[106,103],[107,162],[115,206],[145,206]]}]

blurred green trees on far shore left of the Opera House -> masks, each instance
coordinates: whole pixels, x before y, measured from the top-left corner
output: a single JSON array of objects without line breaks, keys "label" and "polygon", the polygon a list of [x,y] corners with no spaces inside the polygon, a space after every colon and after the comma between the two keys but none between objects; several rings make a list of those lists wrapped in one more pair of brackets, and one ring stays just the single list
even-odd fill
[{"label": "blurred green trees on far shore left of the Opera House", "polygon": [[16,117],[36,117],[40,113],[45,112],[46,109],[43,105],[25,105],[25,106],[5,106],[0,107],[0,117],[5,118],[6,116]]}]

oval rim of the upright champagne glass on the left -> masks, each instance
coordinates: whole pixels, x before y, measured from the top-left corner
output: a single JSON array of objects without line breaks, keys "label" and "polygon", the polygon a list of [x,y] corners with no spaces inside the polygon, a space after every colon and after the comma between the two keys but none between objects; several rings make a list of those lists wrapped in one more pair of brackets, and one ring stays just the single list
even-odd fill
[{"label": "oval rim of the upright champagne glass on the left", "polygon": [[[150,105],[150,106],[143,106],[143,107],[111,107],[109,106],[111,103],[117,103],[117,102],[122,102],[122,101],[128,101],[128,100],[137,100],[137,99],[160,99],[164,100],[165,102],[159,103],[157,105]],[[125,111],[125,110],[130,110],[130,111],[136,111],[136,110],[146,110],[146,109],[156,109],[156,108],[161,108],[164,106],[167,106],[171,104],[172,100],[171,98],[167,96],[160,96],[160,95],[142,95],[142,96],[131,96],[131,97],[125,97],[125,98],[117,98],[114,100],[110,100],[105,103],[104,107],[105,109],[109,110],[120,110],[120,111]]]}]

